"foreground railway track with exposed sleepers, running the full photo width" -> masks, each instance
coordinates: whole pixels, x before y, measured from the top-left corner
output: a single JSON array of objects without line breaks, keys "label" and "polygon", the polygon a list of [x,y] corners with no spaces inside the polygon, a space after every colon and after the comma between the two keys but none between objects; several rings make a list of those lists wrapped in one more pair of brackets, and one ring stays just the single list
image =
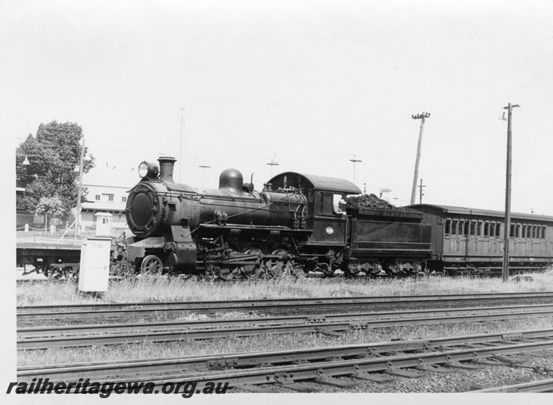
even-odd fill
[{"label": "foreground railway track with exposed sleepers, running the full photo width", "polygon": [[275,387],[308,392],[317,390],[313,382],[353,388],[362,380],[386,382],[395,376],[449,373],[456,368],[513,366],[512,361],[505,362],[505,356],[528,352],[552,355],[551,350],[553,328],[301,350],[28,366],[18,368],[17,380],[48,377],[71,382],[86,376],[100,382],[150,381],[156,386],[167,382],[197,382],[198,386],[228,382],[247,392],[279,390]]}]

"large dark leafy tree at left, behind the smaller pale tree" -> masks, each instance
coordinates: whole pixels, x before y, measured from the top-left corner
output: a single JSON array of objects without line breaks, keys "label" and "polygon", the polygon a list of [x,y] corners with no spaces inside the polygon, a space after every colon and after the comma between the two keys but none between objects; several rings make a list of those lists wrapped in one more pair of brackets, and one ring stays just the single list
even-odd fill
[{"label": "large dark leafy tree at left, behind the smaller pale tree", "polygon": [[[57,197],[66,215],[77,205],[79,174],[75,166],[80,162],[82,128],[75,122],[57,121],[40,124],[37,134],[29,134],[16,151],[15,173],[17,186],[26,187],[19,202],[25,209],[36,211],[43,197]],[[84,153],[88,148],[84,149]],[[24,165],[27,156],[29,164]],[[83,173],[94,167],[94,157],[84,160]],[[82,201],[86,201],[83,190]]]}]

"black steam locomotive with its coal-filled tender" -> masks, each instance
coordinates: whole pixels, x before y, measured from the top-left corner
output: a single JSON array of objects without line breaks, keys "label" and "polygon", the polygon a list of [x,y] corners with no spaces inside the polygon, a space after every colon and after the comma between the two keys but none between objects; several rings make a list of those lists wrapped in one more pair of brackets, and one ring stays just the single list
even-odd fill
[{"label": "black steam locomotive with its coal-filled tender", "polygon": [[227,169],[218,189],[193,189],[173,180],[175,161],[142,162],[142,180],[129,191],[126,219],[135,236],[126,259],[141,272],[412,274],[432,256],[422,212],[348,205],[362,194],[348,180],[288,171],[254,191]]}]

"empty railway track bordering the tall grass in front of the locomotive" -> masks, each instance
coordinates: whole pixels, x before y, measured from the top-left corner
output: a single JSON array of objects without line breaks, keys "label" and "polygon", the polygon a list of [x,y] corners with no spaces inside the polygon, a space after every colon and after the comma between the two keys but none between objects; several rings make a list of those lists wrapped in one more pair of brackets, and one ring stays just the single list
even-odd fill
[{"label": "empty railway track bordering the tall grass in front of the locomotive", "polygon": [[63,319],[126,319],[152,317],[159,314],[178,316],[189,313],[224,312],[320,312],[355,308],[422,308],[429,306],[489,305],[490,303],[553,303],[553,292],[500,294],[444,294],[427,296],[357,296],[305,299],[261,299],[241,301],[181,301],[163,303],[95,303],[73,305],[30,305],[17,307],[19,326],[35,325],[37,321]]}]

